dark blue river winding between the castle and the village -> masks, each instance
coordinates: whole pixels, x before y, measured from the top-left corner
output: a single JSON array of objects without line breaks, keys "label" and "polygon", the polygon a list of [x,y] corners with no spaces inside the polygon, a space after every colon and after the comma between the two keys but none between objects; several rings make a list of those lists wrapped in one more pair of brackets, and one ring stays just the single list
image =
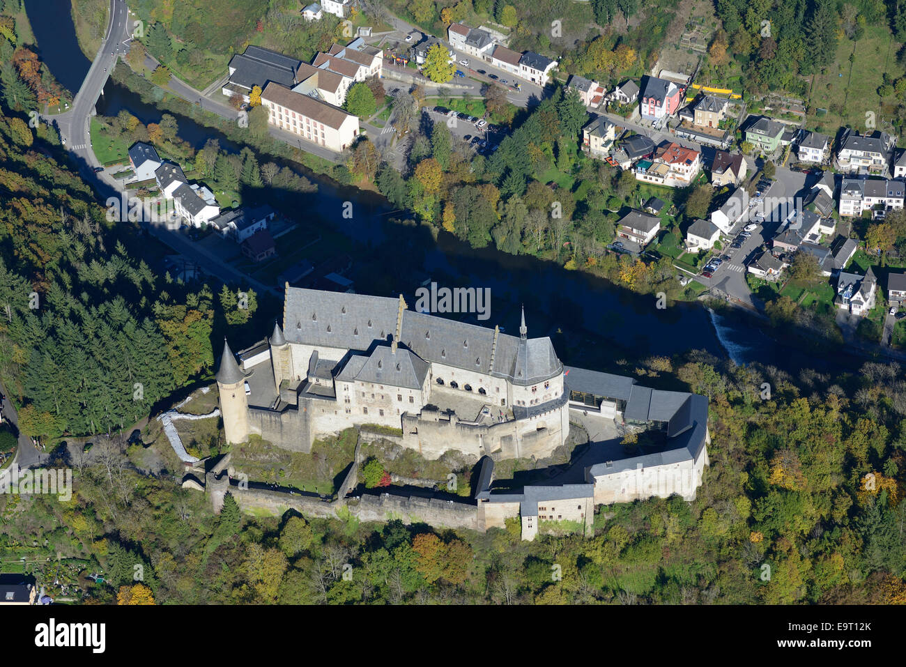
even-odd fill
[{"label": "dark blue river winding between the castle and the village", "polygon": [[[75,41],[72,20],[61,3],[49,0],[26,2],[35,36],[42,45],[42,58],[54,76],[73,93],[78,90],[89,64]],[[109,82],[98,102],[101,115],[115,116],[126,109],[143,123],[159,121],[162,111],[141,102],[138,94]],[[192,119],[177,118],[179,136],[195,148],[210,138],[220,140],[225,150],[238,151],[236,145],[217,131],[199,125]],[[267,159],[269,160],[269,159]],[[280,162],[281,160],[275,160]],[[300,165],[288,161],[297,171]],[[385,199],[371,192],[337,185],[333,180],[306,173],[318,183],[310,205],[299,212],[300,218],[316,216],[325,224],[342,231],[354,241],[381,244],[386,236],[386,218],[390,207]],[[355,216],[342,218],[342,207],[352,202]],[[491,289],[492,304],[499,316],[485,325],[501,324],[507,333],[518,326],[518,306],[525,304],[530,335],[552,335],[563,345],[564,361],[602,365],[600,360],[632,355],[682,353],[691,349],[707,350],[737,363],[763,362],[796,373],[803,368],[822,372],[851,370],[861,361],[835,355],[832,361],[823,356],[802,353],[763,333],[747,316],[716,314],[701,304],[671,304],[659,310],[650,295],[636,295],[612,283],[530,256],[507,255],[487,247],[475,249],[446,234],[425,253],[423,269],[435,280],[442,278],[449,286],[481,285]],[[388,266],[388,272],[399,271]],[[358,290],[368,293],[365,281]],[[411,294],[411,289],[400,291]],[[606,364],[604,364],[606,365]]]}]

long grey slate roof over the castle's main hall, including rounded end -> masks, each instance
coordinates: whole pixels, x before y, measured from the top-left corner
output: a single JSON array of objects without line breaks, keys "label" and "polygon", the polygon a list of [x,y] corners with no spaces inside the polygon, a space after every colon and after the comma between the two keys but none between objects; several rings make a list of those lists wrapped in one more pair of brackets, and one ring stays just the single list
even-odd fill
[{"label": "long grey slate roof over the castle's main hall, including rounded end", "polygon": [[[292,343],[364,351],[396,330],[399,299],[289,288],[284,335]],[[329,330],[328,330],[329,329]],[[400,344],[427,362],[487,373],[525,385],[554,377],[563,364],[550,338],[520,340],[443,317],[403,311]]]}]

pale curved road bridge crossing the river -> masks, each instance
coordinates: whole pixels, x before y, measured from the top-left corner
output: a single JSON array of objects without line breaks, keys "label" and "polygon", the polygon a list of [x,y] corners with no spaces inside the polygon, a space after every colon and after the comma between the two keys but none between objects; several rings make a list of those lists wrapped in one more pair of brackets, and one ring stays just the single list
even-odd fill
[{"label": "pale curved road bridge crossing the river", "polygon": [[101,50],[94,57],[79,92],[75,94],[72,108],[53,117],[60,130],[63,145],[92,167],[98,166],[89,133],[94,105],[101,97],[101,91],[120,55],[129,53],[128,42],[131,37],[129,7],[123,0],[111,0],[110,17],[107,36],[101,43]]}]

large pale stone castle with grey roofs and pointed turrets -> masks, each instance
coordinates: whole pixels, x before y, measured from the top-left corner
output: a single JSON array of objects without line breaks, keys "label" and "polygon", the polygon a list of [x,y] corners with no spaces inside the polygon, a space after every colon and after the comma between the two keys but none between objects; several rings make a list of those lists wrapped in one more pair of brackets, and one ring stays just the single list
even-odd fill
[{"label": "large pale stone castle with grey roofs and pointed turrets", "polygon": [[[516,337],[411,311],[401,295],[286,285],[283,327],[238,359],[225,341],[217,387],[227,441],[256,434],[308,452],[320,435],[376,425],[427,459],[454,449],[484,458],[483,523],[520,516],[527,538],[545,520],[590,527],[596,504],[694,498],[708,464],[707,399],[564,367],[550,338],[528,337],[525,312]],[[492,492],[493,461],[551,456],[566,442],[571,411],[656,431],[660,444],[629,457],[593,449],[577,483]]]}]

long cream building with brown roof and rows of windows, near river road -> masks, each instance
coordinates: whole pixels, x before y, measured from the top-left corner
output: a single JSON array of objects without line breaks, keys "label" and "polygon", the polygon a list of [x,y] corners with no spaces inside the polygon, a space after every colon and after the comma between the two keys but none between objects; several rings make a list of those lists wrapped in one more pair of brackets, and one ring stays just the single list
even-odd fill
[{"label": "long cream building with brown roof and rows of windows, near river road", "polygon": [[334,152],[342,152],[359,136],[359,119],[327,102],[268,83],[261,103],[270,111],[269,122]]}]

